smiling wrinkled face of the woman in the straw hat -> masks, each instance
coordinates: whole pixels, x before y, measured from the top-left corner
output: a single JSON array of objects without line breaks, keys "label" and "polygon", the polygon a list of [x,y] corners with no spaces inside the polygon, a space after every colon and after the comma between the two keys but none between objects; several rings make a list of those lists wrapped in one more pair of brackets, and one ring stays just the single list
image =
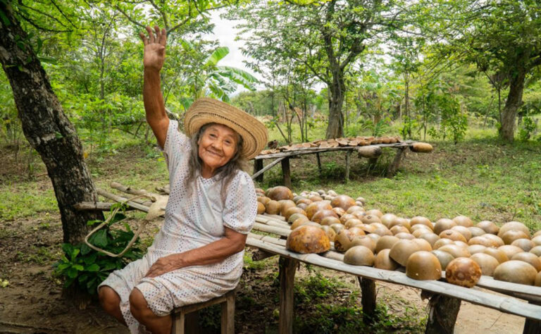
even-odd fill
[{"label": "smiling wrinkled face of the woman in the straw hat", "polygon": [[203,162],[201,175],[211,178],[216,169],[224,166],[235,156],[239,135],[226,125],[211,124],[197,141],[199,158]]}]

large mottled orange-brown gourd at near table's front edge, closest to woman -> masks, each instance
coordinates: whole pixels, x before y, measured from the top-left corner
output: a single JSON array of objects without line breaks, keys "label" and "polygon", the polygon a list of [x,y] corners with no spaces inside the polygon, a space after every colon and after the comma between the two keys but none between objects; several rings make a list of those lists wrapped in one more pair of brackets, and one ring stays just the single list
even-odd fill
[{"label": "large mottled orange-brown gourd at near table's front edge, closest to woman", "polygon": [[330,249],[330,241],[321,228],[304,225],[291,231],[285,247],[292,252],[301,254],[318,254]]}]

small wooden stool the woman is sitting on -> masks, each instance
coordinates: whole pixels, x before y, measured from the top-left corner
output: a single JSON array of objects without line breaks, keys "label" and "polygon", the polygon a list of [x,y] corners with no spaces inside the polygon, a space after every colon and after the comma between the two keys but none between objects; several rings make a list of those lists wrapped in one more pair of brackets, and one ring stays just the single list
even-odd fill
[{"label": "small wooden stool the woman is sitting on", "polygon": [[[185,305],[183,307],[178,307],[173,309],[173,328],[171,328],[171,333],[173,334],[184,334],[185,331],[185,321],[186,315],[205,307],[210,307],[215,304],[222,304],[222,334],[233,334],[235,333],[235,294],[237,288],[227,292],[225,295],[216,297],[206,302]],[[192,333],[188,333],[192,334]]]}]

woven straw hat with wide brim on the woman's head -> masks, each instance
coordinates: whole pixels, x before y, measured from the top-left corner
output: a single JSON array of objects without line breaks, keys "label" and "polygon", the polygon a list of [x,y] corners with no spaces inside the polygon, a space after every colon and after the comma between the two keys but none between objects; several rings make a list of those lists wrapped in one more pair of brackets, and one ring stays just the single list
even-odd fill
[{"label": "woven straw hat with wide brim on the woman's head", "polygon": [[186,135],[192,137],[206,123],[227,125],[242,137],[242,156],[252,159],[267,143],[267,128],[254,116],[230,104],[201,97],[186,111],[184,128]]}]

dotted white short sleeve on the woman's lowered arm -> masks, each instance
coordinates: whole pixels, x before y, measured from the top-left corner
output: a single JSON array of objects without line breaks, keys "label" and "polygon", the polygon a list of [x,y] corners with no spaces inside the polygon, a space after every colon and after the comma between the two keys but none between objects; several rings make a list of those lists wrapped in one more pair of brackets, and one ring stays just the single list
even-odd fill
[{"label": "dotted white short sleeve on the woman's lowered arm", "polygon": [[240,171],[226,191],[223,225],[238,233],[248,234],[254,227],[257,214],[254,182],[248,173]]}]

